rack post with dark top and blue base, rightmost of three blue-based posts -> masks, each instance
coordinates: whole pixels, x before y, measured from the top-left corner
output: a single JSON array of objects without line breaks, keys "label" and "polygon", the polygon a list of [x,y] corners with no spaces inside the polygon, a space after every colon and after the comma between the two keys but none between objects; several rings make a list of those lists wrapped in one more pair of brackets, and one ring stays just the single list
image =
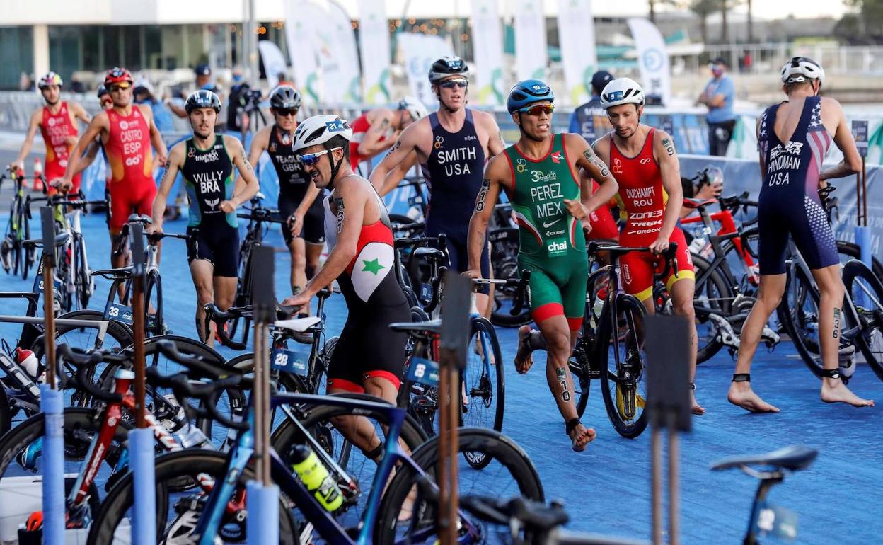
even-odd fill
[{"label": "rack post with dark top and blue base, rightmost of three blue-based posts", "polygon": [[279,487],[270,476],[269,324],[275,319],[274,248],[252,249],[254,304],[254,457],[256,479],[245,485],[248,545],[279,542]]}]

